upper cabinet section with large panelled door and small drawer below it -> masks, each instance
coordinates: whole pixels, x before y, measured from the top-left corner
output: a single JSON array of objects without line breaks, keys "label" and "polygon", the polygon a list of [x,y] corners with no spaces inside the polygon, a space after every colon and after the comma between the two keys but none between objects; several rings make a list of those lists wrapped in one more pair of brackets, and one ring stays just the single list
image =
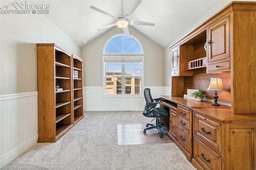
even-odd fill
[{"label": "upper cabinet section with large panelled door and small drawer below it", "polygon": [[230,71],[230,16],[207,29],[208,72]]}]

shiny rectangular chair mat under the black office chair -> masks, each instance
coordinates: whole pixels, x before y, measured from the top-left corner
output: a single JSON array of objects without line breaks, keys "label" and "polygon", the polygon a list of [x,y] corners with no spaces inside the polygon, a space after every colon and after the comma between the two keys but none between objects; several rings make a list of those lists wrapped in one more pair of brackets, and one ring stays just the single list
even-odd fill
[{"label": "shiny rectangular chair mat under the black office chair", "polygon": [[118,144],[154,144],[172,142],[172,140],[168,138],[168,129],[162,129],[163,137],[160,138],[156,128],[147,130],[146,134],[143,133],[144,128],[146,128],[146,123],[118,123]]}]

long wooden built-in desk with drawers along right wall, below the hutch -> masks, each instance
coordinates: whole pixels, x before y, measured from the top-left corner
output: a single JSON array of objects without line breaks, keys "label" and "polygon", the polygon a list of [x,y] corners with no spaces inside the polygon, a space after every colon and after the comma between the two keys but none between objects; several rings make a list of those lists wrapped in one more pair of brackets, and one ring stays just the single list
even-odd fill
[{"label": "long wooden built-in desk with drawers along right wall, below the hutch", "polygon": [[255,169],[256,114],[232,114],[210,102],[160,96],[170,109],[168,137],[198,169]]}]

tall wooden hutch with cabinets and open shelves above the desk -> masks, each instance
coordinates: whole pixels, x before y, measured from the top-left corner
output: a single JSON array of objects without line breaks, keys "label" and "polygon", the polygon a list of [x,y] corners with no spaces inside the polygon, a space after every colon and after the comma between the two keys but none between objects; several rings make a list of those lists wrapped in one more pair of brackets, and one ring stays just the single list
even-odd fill
[{"label": "tall wooden hutch with cabinets and open shelves above the desk", "polygon": [[[172,75],[171,95],[186,95],[187,89],[207,92],[210,78],[223,76],[227,93],[222,92],[224,97],[220,99],[231,103],[232,113],[256,113],[255,21],[255,2],[233,1],[193,32],[171,45],[170,49],[179,47],[178,76]],[[183,47],[190,45],[193,50],[184,51]],[[192,58],[184,53],[191,54]],[[203,57],[207,58],[206,68],[191,69],[189,65],[186,67],[186,63]],[[186,76],[186,72],[192,72],[193,76]],[[225,74],[219,74],[220,72]]]}]

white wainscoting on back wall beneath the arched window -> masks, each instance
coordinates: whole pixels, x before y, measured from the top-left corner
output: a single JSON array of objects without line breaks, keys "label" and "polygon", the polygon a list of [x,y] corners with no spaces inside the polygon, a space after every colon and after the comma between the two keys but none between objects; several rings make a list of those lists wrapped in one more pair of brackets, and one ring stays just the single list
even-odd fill
[{"label": "white wainscoting on back wall beneath the arched window", "polygon": [[[169,87],[145,88],[150,88],[152,98],[171,94]],[[144,109],[143,94],[140,97],[105,97],[103,91],[103,87],[84,87],[84,111],[143,111]]]}]

